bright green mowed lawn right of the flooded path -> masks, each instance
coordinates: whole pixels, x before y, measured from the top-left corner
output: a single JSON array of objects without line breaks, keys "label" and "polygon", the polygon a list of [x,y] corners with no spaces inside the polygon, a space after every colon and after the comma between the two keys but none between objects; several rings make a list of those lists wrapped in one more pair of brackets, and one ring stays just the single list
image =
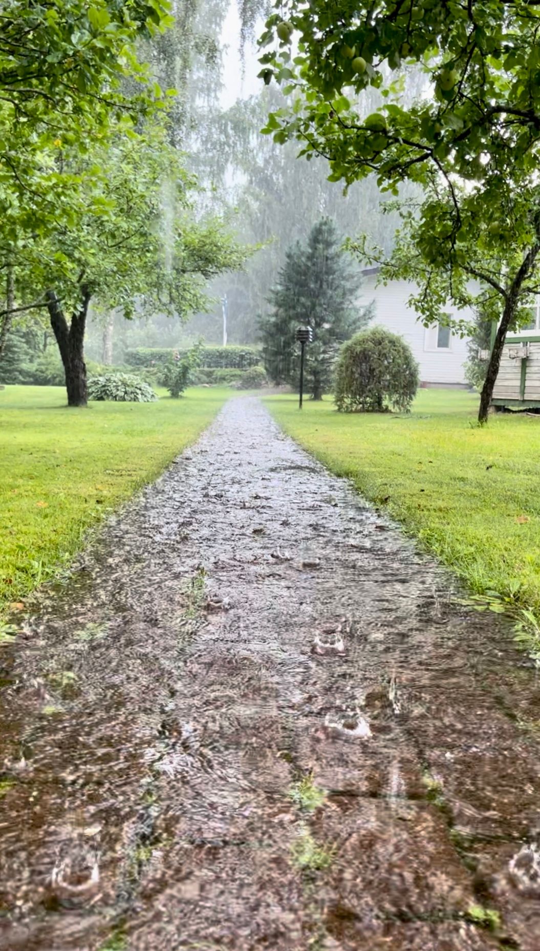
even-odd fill
[{"label": "bright green mowed lawn right of the flooded path", "polygon": [[476,593],[540,614],[540,416],[475,425],[478,397],[420,390],[410,416],[269,397],[283,429],[385,508]]}]

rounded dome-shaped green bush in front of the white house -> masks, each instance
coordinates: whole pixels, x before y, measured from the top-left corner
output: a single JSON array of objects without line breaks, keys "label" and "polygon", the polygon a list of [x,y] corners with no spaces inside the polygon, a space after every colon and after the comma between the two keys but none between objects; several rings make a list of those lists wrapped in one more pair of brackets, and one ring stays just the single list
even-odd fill
[{"label": "rounded dome-shaped green bush in front of the white house", "polygon": [[408,413],[417,388],[418,364],[397,334],[373,327],[342,345],[334,391],[339,412]]}]

